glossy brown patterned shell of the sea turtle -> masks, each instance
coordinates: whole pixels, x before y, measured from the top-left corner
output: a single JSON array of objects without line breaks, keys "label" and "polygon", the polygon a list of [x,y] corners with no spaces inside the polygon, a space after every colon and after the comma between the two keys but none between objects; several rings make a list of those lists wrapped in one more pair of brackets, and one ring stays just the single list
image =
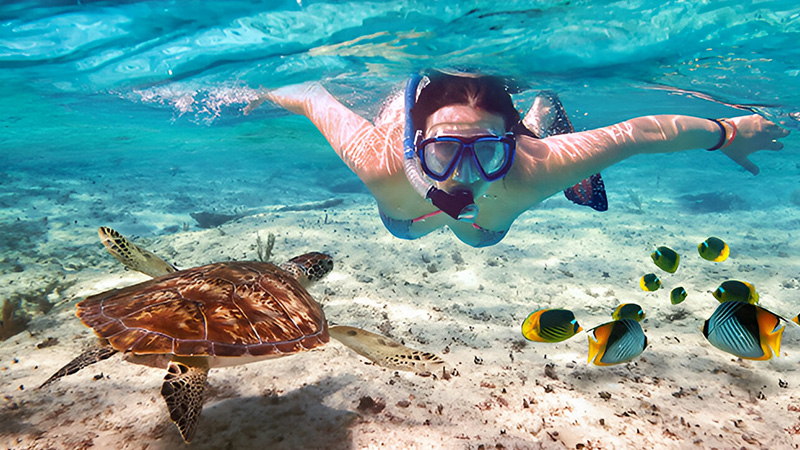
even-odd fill
[{"label": "glossy brown patterned shell of the sea turtle", "polygon": [[120,352],[275,357],[328,342],[320,305],[269,263],[173,272],[78,303],[78,317]]}]

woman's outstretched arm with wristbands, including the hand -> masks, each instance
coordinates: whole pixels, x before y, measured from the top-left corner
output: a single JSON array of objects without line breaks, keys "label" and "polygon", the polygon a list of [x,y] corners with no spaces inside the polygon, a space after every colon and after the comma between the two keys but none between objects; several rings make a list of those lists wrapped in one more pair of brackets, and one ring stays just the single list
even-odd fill
[{"label": "woman's outstretched arm with wristbands, including the hand", "polygon": [[[780,150],[783,143],[778,139],[789,134],[758,115],[724,119],[721,124],[725,138],[719,151],[753,174],[758,167],[748,156]],[[530,187],[529,199],[535,203],[633,155],[712,148],[721,139],[722,129],[714,121],[678,115],[638,117],[541,140],[522,136],[519,161],[509,175],[521,195]]]}]

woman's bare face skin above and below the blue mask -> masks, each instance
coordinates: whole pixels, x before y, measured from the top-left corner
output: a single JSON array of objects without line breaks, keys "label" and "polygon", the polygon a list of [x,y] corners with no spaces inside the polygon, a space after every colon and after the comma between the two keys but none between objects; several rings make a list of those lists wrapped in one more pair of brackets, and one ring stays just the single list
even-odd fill
[{"label": "woman's bare face skin above and below the blue mask", "polygon": [[[436,136],[473,137],[505,134],[503,117],[468,105],[448,105],[434,112],[426,122],[424,139]],[[490,182],[481,178],[472,158],[462,158],[453,175],[438,181],[436,187],[448,193],[469,190],[474,197],[483,195]]]}]

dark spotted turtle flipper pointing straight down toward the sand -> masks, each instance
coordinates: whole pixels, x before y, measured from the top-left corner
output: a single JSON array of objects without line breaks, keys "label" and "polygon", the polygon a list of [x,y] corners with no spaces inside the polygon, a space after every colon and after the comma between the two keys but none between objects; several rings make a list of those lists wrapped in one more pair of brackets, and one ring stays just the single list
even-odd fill
[{"label": "dark spotted turtle flipper pointing straight down toward the sand", "polygon": [[200,411],[203,410],[203,394],[207,378],[208,367],[171,361],[167,367],[164,384],[161,385],[161,396],[167,402],[169,417],[175,422],[187,444],[197,430]]}]

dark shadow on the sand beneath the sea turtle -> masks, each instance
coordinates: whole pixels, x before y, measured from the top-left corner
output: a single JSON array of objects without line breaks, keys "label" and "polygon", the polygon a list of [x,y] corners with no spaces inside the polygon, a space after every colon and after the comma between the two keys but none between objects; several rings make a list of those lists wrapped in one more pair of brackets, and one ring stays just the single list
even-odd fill
[{"label": "dark shadow on the sand beneath the sea turtle", "polygon": [[177,429],[169,425],[158,449],[298,449],[350,450],[350,426],[355,412],[323,404],[340,386],[354,382],[342,375],[326,377],[285,394],[234,397],[203,409],[197,434],[185,445]]}]

